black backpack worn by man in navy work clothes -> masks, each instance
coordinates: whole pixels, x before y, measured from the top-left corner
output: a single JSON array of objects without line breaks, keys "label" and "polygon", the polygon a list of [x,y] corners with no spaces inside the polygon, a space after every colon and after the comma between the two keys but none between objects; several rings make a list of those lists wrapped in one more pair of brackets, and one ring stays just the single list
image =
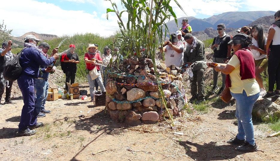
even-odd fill
[{"label": "black backpack worn by man in navy work clothes", "polygon": [[[25,48],[26,47],[24,47],[23,49]],[[15,81],[21,75],[22,67],[19,64],[19,58],[22,54],[22,50],[13,59],[6,62],[3,73],[5,80]]]}]

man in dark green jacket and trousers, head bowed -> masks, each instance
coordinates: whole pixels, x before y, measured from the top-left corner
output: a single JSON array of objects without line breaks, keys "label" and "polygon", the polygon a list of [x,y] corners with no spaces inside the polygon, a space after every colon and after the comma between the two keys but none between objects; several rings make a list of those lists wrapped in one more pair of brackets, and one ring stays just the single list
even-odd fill
[{"label": "man in dark green jacket and trousers, head bowed", "polygon": [[191,95],[190,102],[194,100],[197,102],[205,101],[204,99],[204,70],[207,68],[204,43],[198,40],[190,33],[186,33],[184,40],[187,42],[186,50],[184,52],[184,64],[188,64],[188,68],[192,68],[193,77],[190,76]]}]

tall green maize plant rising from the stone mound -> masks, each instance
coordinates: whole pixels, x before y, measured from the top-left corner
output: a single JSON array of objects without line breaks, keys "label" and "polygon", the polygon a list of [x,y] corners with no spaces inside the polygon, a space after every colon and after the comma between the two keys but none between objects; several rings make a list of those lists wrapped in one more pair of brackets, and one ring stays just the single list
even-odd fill
[{"label": "tall green maize plant rising from the stone mound", "polygon": [[[106,18],[108,13],[114,12],[118,17],[118,25],[121,31],[121,38],[125,41],[125,45],[121,46],[120,50],[124,50],[128,57],[134,55],[138,57],[151,58],[153,66],[156,69],[156,49],[158,44],[163,45],[164,37],[168,31],[165,21],[174,18],[176,24],[178,23],[176,14],[170,6],[171,0],[121,0],[124,10],[119,11],[115,2],[110,1],[112,8],[107,8]],[[183,11],[183,8],[176,0],[174,1],[178,7]],[[184,11],[183,11],[184,12]],[[123,21],[123,14],[127,13],[127,23]],[[164,26],[164,27],[163,27]],[[163,29],[165,28],[165,35],[163,36]],[[159,41],[159,42],[158,42]],[[145,55],[141,52],[141,47],[147,50]],[[167,109],[167,102],[164,98],[164,92],[159,81],[159,74],[155,70],[157,84],[159,86],[160,98],[162,104],[165,105],[165,110],[171,118],[171,123],[174,125],[172,117]]]}]

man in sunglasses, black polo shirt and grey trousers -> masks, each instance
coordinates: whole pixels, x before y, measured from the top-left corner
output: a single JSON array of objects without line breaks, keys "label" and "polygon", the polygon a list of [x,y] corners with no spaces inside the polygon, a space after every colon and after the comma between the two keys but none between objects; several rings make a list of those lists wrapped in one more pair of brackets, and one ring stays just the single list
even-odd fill
[{"label": "man in sunglasses, black polo shirt and grey trousers", "polygon": [[[217,35],[212,43],[211,49],[214,51],[214,55],[212,58],[213,62],[223,63],[225,64],[228,61],[229,56],[231,55],[231,45],[228,44],[231,41],[231,36],[225,33],[225,24],[218,24],[217,31],[219,35]],[[226,75],[222,74],[222,87],[219,90],[218,94],[220,94],[225,88],[225,78]],[[213,70],[213,89],[211,93],[215,93],[219,87],[217,86],[219,72]]]}]

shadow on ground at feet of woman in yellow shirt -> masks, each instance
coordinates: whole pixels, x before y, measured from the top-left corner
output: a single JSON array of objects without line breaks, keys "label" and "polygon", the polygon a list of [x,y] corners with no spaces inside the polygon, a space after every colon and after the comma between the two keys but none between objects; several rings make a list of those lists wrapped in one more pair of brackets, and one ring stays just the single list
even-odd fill
[{"label": "shadow on ground at feet of woman in yellow shirt", "polygon": [[245,153],[237,151],[235,145],[216,145],[217,142],[204,143],[203,145],[189,141],[177,142],[185,148],[186,154],[193,160],[230,160]]}]

